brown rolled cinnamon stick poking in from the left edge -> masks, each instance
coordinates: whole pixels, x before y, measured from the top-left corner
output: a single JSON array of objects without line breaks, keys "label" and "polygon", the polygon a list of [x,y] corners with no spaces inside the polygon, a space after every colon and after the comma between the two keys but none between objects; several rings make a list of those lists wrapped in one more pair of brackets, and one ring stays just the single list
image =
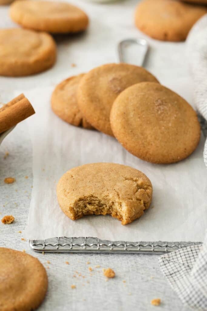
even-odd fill
[{"label": "brown rolled cinnamon stick poking in from the left edge", "polygon": [[34,108],[24,94],[15,97],[0,108],[0,133],[35,114]]}]

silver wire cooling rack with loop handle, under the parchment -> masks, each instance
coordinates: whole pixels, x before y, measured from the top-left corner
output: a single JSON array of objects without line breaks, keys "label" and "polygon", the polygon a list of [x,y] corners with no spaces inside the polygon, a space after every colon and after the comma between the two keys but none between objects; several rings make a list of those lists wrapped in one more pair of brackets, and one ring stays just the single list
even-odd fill
[{"label": "silver wire cooling rack with loop handle, under the parchment", "polygon": [[[118,44],[119,61],[124,61],[124,48],[128,44],[137,44],[144,47],[139,59],[140,66],[143,65],[149,45],[146,40],[139,38],[128,38]],[[207,137],[207,121],[200,114],[198,119],[204,137]],[[176,251],[187,246],[199,245],[201,242],[125,242],[106,241],[91,237],[79,238],[52,238],[46,240],[29,240],[30,247],[35,252],[47,253],[145,253],[163,254]]]}]

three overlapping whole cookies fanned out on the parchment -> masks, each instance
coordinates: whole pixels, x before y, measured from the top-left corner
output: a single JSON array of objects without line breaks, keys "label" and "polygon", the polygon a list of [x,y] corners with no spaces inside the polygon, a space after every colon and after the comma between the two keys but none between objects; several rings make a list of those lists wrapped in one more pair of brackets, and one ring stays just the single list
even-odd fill
[{"label": "three overlapping whole cookies fanned out on the parchment", "polygon": [[200,140],[196,112],[142,67],[106,64],[64,80],[52,110],[68,123],[95,128],[133,155],[169,164],[189,156]]}]

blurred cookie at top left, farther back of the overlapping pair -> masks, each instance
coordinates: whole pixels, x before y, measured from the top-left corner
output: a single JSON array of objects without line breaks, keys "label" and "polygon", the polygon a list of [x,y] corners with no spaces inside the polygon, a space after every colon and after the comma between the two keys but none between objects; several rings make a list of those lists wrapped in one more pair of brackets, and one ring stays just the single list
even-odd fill
[{"label": "blurred cookie at top left, farther back of the overlapping pair", "polygon": [[10,7],[10,16],[21,26],[51,33],[74,33],[88,26],[88,16],[67,2],[22,0]]}]

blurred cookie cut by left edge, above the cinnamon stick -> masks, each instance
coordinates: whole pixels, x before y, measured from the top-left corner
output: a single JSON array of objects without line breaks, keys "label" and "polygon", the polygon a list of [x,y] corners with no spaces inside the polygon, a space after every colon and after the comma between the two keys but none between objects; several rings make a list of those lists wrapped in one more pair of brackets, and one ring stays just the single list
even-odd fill
[{"label": "blurred cookie cut by left edge, above the cinnamon stick", "polygon": [[56,44],[51,35],[20,28],[0,29],[0,75],[28,76],[52,67],[55,61]]}]

